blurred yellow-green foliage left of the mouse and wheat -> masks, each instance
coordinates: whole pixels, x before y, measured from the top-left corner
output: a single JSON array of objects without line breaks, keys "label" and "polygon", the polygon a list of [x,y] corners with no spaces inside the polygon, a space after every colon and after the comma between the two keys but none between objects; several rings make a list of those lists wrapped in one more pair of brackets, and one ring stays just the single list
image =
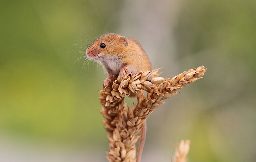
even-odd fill
[{"label": "blurred yellow-green foliage left of the mouse and wheat", "polygon": [[105,17],[118,5],[97,3],[2,2],[1,131],[82,145],[90,138],[104,139],[107,144],[97,92],[102,77],[95,76],[92,63],[90,70],[87,65],[81,70],[83,61],[74,64],[86,49],[79,40],[93,40],[94,34],[105,32]]}]

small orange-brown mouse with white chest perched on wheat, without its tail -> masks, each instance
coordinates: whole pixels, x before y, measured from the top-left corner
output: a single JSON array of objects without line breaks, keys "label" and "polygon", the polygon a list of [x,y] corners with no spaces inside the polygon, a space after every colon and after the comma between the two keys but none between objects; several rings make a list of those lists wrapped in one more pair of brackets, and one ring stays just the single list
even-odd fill
[{"label": "small orange-brown mouse with white chest perched on wheat, without its tail", "polygon": [[100,36],[87,48],[86,54],[99,61],[109,74],[104,85],[113,75],[124,75],[125,70],[133,73],[151,70],[149,58],[139,42],[115,33]]}]

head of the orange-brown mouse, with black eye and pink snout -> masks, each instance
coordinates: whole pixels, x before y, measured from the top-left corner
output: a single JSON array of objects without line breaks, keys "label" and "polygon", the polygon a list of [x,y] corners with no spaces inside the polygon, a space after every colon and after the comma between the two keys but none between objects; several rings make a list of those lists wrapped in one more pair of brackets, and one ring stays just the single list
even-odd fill
[{"label": "head of the orange-brown mouse, with black eye and pink snout", "polygon": [[100,36],[94,41],[87,48],[86,54],[91,59],[103,60],[107,57],[117,57],[122,54],[126,46],[128,46],[127,38],[115,33],[109,33]]}]

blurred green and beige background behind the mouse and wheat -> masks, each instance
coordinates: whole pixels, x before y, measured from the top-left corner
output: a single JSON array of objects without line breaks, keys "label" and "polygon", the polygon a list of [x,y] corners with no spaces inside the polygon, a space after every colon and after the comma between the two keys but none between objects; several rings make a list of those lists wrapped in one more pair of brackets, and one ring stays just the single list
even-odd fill
[{"label": "blurred green and beige background behind the mouse and wheat", "polygon": [[114,32],[137,39],[161,76],[208,68],[148,118],[142,162],[170,162],[180,139],[190,162],[255,162],[255,15],[255,0],[2,0],[0,161],[107,161],[107,74],[75,60]]}]

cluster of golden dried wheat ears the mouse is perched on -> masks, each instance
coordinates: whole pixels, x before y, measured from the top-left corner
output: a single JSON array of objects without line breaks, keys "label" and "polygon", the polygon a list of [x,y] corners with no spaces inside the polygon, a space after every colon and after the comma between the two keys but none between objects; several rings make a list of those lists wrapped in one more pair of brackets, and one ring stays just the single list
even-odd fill
[{"label": "cluster of golden dried wheat ears the mouse is perched on", "polygon": [[[161,100],[178,94],[177,90],[202,78],[206,71],[204,66],[200,66],[170,79],[158,77],[158,70],[126,73],[124,77],[114,76],[99,92],[103,106],[100,112],[105,118],[103,124],[110,145],[110,151],[106,151],[109,161],[135,162],[135,143],[143,122],[155,108],[164,103]],[[147,94],[145,96],[142,93],[137,104],[133,103],[131,108],[124,104],[124,97],[129,96],[130,92],[141,93],[143,90]]]}]

